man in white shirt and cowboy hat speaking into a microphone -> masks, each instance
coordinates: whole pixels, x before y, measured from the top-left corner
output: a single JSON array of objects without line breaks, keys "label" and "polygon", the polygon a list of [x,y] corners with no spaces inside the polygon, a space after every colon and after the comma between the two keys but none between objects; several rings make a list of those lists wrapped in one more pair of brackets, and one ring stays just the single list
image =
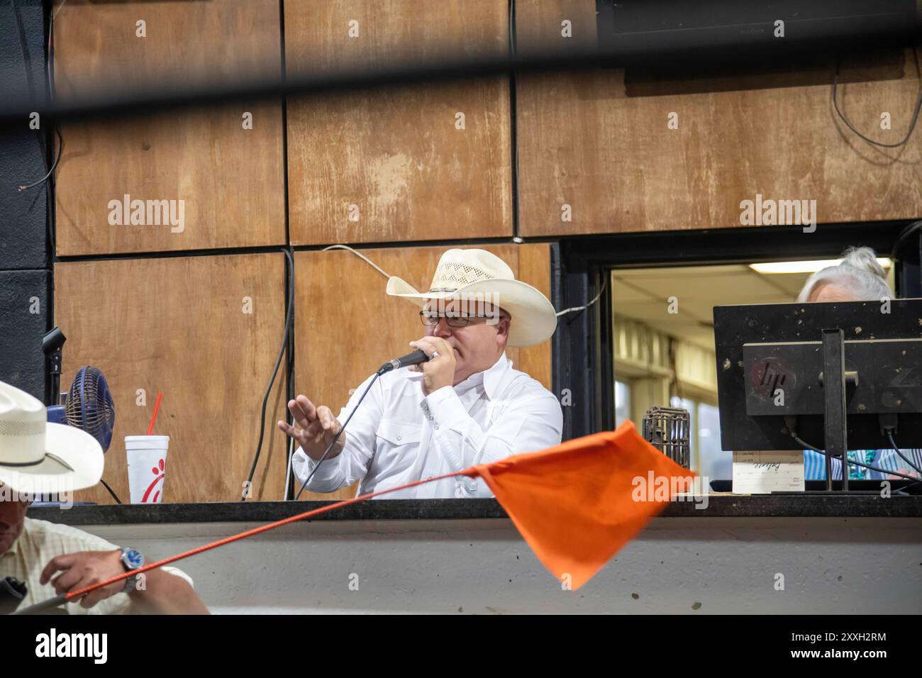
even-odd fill
[{"label": "man in white shirt and cowboy hat speaking into a microphone", "polygon": [[[550,339],[557,315],[544,294],[480,249],[445,252],[429,291],[391,277],[387,293],[421,307],[425,336],[410,346],[431,358],[378,379],[307,489],[335,492],[360,481],[365,494],[561,442],[557,398],[514,370],[504,352]],[[355,390],[338,419],[306,396],[290,400],[298,428],[278,427],[300,444],[292,468],[301,482],[371,381]],[[489,496],[482,480],[455,477],[383,498]]]}]

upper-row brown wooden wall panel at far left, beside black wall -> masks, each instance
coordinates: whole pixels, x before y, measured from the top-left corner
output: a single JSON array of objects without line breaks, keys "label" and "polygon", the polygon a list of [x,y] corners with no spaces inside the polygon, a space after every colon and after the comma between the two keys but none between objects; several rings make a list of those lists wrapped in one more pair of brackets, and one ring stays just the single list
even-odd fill
[{"label": "upper-row brown wooden wall panel at far left, beside black wall", "polygon": [[[62,96],[280,72],[277,0],[68,0],[55,7],[54,73]],[[146,37],[137,36],[138,21]],[[244,113],[252,113],[250,129]],[[59,256],[286,243],[279,102],[77,123],[63,132]],[[182,224],[113,224],[110,201],[124,196],[182,200]],[[179,222],[180,203],[174,206]]]}]

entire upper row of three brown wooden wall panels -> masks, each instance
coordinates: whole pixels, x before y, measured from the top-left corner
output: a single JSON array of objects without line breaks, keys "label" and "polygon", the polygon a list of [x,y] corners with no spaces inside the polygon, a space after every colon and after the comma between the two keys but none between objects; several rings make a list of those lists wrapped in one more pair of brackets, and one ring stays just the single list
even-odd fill
[{"label": "entire upper row of three brown wooden wall panels", "polygon": [[[502,54],[508,9],[507,0],[287,0],[286,69]],[[520,53],[596,42],[594,0],[516,0],[515,13]],[[147,38],[136,37],[139,18]],[[564,21],[572,37],[561,35]],[[282,56],[274,0],[74,0],[55,26],[62,93],[177,74],[274,76]],[[916,61],[907,51],[844,64],[841,108],[872,137],[901,137]],[[903,149],[859,140],[833,113],[832,76],[830,64],[725,77],[608,68],[517,77],[518,234],[739,226],[740,201],[757,194],[816,200],[821,222],[916,217],[922,136]],[[246,112],[253,129],[242,129]],[[891,113],[889,131],[882,112]],[[668,127],[672,113],[677,129]],[[284,130],[271,102],[66,128],[58,254],[514,235],[508,78],[294,99],[287,115]],[[183,232],[112,226],[109,202],[126,194],[185,200]]]}]

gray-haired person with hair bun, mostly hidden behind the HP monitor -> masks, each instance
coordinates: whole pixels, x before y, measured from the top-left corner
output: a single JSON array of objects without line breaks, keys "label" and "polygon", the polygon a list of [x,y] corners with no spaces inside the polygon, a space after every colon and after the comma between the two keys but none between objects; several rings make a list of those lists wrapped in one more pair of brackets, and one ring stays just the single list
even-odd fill
[{"label": "gray-haired person with hair bun, mostly hidden behind the HP monitor", "polygon": [[[842,263],[814,273],[798,294],[803,302],[880,302],[891,299],[893,292],[887,284],[887,274],[878,263],[870,247],[849,247],[842,254]],[[903,456],[916,467],[922,468],[922,450],[904,449]],[[892,449],[850,450],[848,458],[878,469],[906,475],[918,475],[903,458]],[[860,466],[848,465],[849,480],[881,480],[887,474]],[[893,476],[897,478],[898,476]],[[825,480],[826,462],[823,455],[804,450],[804,478]],[[833,458],[833,479],[842,479],[842,462]]]}]

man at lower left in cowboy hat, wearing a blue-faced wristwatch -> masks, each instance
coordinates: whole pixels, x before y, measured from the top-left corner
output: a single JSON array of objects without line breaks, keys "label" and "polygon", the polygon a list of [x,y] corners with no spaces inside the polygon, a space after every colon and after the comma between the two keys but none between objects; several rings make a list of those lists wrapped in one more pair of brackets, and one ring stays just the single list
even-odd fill
[{"label": "man at lower left in cowboy hat, wearing a blue-faced wristwatch", "polygon": [[[26,517],[36,494],[69,496],[101,475],[102,448],[92,435],[47,422],[41,401],[0,382],[0,578],[15,577],[28,587],[20,609],[144,565],[134,549]],[[181,570],[160,567],[143,577],[143,587],[129,577],[65,603],[65,612],[207,613]]]}]

